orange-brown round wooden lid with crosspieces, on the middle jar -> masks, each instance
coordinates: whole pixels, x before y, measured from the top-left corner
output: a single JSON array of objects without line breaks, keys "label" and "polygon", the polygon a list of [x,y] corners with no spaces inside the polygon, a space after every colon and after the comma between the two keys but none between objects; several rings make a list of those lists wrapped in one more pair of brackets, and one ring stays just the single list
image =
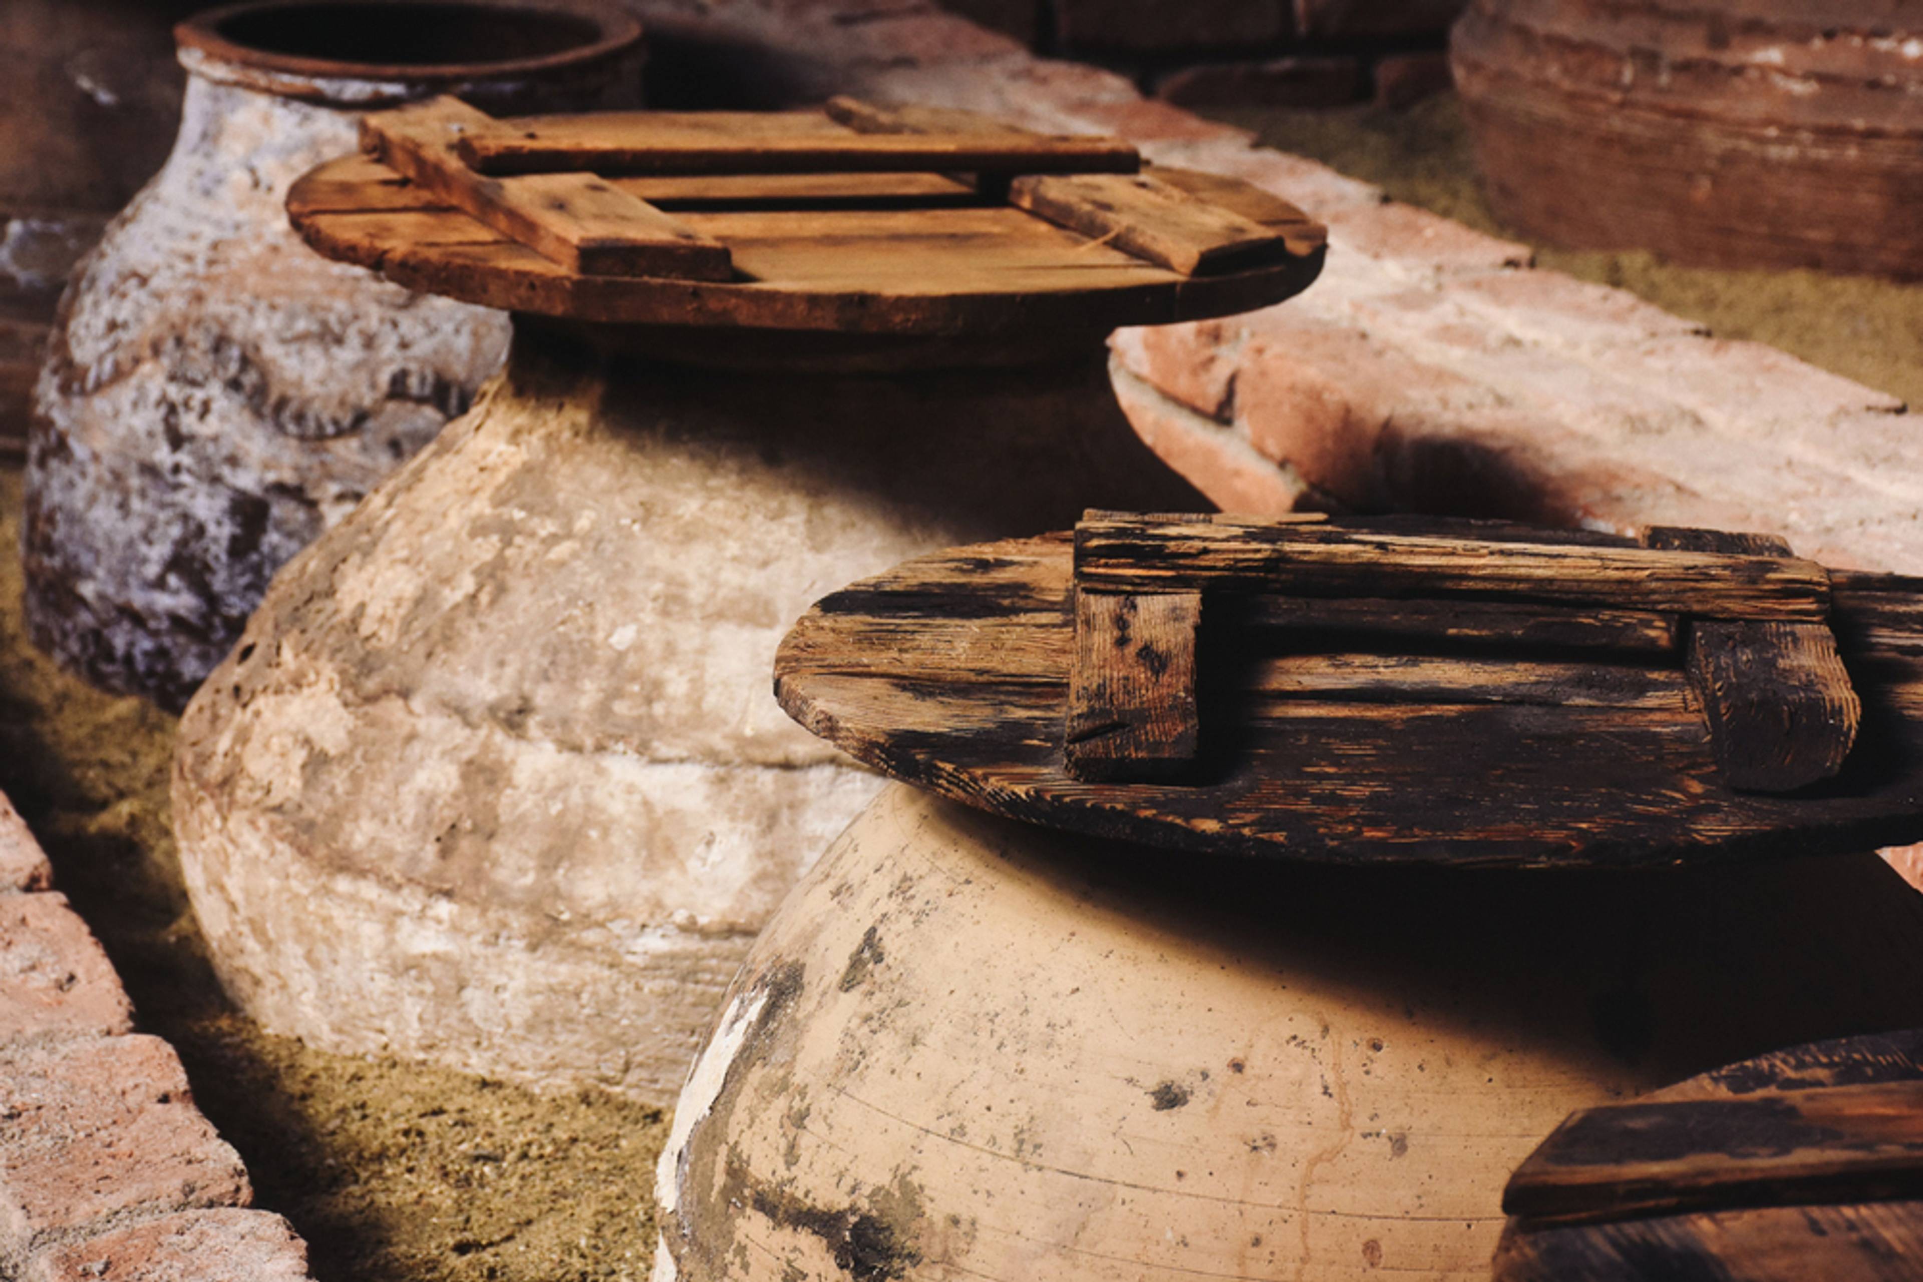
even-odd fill
[{"label": "orange-brown round wooden lid with crosspieces, on the middle jar", "polygon": [[308,244],[583,321],[1113,329],[1279,302],[1323,258],[1323,229],[1248,183],[965,111],[492,119],[440,98],[367,117],[362,142],[288,194]]}]

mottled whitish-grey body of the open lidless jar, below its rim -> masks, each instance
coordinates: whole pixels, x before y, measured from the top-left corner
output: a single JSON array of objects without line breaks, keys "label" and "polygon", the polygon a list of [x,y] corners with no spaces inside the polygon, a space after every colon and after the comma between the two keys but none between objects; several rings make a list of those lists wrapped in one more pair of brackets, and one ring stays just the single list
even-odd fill
[{"label": "mottled whitish-grey body of the open lidless jar, below its rim", "polygon": [[508,319],[329,263],[287,186],[346,111],[188,85],[162,173],[62,304],[27,459],[35,640],[179,707],[273,571],[465,409]]}]

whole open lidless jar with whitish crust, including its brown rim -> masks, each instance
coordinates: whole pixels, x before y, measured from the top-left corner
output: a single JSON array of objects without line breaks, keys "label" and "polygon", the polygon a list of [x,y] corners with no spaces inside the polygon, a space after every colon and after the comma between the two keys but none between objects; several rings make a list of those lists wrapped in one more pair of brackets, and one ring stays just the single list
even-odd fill
[{"label": "whole open lidless jar with whitish crust, including its brown rim", "polygon": [[429,94],[625,106],[638,38],[619,12],[508,0],[267,0],[177,29],[173,154],[77,269],[37,390],[37,644],[112,690],[187,702],[273,571],[463,411],[508,348],[498,311],[302,246],[292,179],[350,152],[362,111]]}]

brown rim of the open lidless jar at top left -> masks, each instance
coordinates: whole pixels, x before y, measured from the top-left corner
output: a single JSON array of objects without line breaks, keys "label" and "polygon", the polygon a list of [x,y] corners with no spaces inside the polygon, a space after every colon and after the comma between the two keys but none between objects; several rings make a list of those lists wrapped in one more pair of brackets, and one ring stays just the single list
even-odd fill
[{"label": "brown rim of the open lidless jar at top left", "polygon": [[192,75],[260,88],[287,98],[371,106],[454,92],[465,85],[538,81],[638,54],[642,27],[625,10],[602,0],[406,0],[408,8],[467,10],[517,17],[554,15],[590,23],[594,38],[533,58],[490,62],[348,62],[283,54],[242,44],[223,33],[235,19],[275,10],[367,10],[369,0],[242,0],[202,10],[173,29],[181,65]]}]

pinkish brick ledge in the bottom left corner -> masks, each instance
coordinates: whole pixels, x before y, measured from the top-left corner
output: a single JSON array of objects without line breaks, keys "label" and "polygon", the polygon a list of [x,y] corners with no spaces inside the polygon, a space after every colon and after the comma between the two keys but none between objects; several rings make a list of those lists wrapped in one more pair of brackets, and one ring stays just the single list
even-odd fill
[{"label": "pinkish brick ledge in the bottom left corner", "polygon": [[0,796],[0,1278],[306,1282],[240,1157]]}]

